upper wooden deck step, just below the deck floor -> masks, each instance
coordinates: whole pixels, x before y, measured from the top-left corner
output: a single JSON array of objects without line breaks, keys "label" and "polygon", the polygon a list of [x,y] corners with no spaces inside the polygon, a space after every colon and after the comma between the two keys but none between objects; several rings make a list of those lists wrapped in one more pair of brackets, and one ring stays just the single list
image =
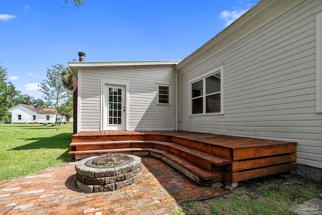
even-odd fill
[{"label": "upper wooden deck step, just below the deck floor", "polygon": [[191,161],[194,164],[202,166],[208,170],[218,169],[216,166],[222,166],[231,163],[230,159],[221,158],[209,153],[198,151],[172,142],[157,140],[125,140],[125,141],[104,141],[104,142],[72,142],[70,144],[73,151],[85,150],[111,150],[124,148],[154,148],[171,152],[181,158]]}]

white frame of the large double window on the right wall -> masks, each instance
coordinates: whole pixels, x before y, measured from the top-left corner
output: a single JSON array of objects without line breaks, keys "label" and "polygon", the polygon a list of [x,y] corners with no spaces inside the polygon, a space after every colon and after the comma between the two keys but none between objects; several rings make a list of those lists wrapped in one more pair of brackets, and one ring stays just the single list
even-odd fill
[{"label": "white frame of the large double window on the right wall", "polygon": [[[220,112],[217,113],[206,113],[206,89],[205,89],[205,82],[206,78],[208,78],[211,75],[215,75],[220,73]],[[196,83],[200,80],[203,80],[203,113],[195,113],[192,114],[192,84]],[[223,115],[224,114],[224,93],[223,93],[223,80],[224,80],[224,72],[223,72],[223,64],[220,66],[217,66],[206,73],[203,73],[202,75],[199,75],[191,80],[189,80],[189,116],[203,116],[203,115]]]}]

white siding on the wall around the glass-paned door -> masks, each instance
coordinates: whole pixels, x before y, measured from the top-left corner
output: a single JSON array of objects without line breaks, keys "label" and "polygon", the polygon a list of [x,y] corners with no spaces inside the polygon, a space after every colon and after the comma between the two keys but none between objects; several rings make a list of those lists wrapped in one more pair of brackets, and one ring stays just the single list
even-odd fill
[{"label": "white siding on the wall around the glass-paned door", "polygon": [[[101,80],[129,83],[129,130],[175,130],[176,73],[174,65],[78,70],[78,89],[81,89],[78,92],[80,131],[101,129]],[[156,104],[156,84],[171,86],[171,105]]]}]

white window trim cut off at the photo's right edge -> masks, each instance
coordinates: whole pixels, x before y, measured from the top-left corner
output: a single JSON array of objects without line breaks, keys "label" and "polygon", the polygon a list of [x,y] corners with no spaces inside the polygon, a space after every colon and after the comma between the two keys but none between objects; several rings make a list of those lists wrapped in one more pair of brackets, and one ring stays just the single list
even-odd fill
[{"label": "white window trim cut off at the photo's right edge", "polygon": [[322,113],[322,11],[315,14],[316,24],[316,106],[315,112]]}]

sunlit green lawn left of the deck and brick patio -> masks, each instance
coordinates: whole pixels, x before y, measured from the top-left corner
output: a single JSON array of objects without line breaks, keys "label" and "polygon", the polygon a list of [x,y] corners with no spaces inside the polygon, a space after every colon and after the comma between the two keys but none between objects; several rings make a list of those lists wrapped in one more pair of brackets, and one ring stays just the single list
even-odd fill
[{"label": "sunlit green lawn left of the deck and brick patio", "polygon": [[69,162],[72,124],[0,124],[0,181]]}]

